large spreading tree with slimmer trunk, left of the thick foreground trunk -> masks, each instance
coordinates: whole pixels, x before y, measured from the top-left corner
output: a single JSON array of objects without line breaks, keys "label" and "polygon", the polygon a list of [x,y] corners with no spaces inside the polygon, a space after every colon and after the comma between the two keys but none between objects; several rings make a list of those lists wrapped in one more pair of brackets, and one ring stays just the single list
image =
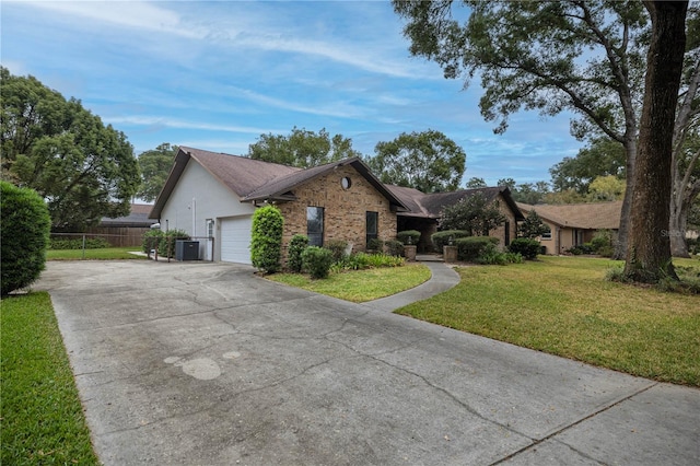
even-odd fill
[{"label": "large spreading tree with slimmer trunk, left of the thick foreground trunk", "polygon": [[[635,103],[643,90],[649,15],[637,1],[464,1],[464,23],[453,1],[394,0],[408,20],[410,51],[436,61],[446,78],[475,75],[485,94],[481,114],[508,128],[521,108],[544,115],[572,110],[572,133],[603,132],[622,144],[626,170],[634,172]],[[463,14],[459,14],[463,16]],[[627,238],[632,184],[628,183],[620,247]]]}]

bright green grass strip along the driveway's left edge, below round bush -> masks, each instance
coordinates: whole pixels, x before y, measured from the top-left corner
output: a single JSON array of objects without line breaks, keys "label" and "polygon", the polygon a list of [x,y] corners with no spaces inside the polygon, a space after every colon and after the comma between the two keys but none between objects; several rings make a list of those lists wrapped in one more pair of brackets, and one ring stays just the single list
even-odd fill
[{"label": "bright green grass strip along the driveway's left edge, below round bush", "polygon": [[48,293],[3,299],[0,464],[98,464]]}]

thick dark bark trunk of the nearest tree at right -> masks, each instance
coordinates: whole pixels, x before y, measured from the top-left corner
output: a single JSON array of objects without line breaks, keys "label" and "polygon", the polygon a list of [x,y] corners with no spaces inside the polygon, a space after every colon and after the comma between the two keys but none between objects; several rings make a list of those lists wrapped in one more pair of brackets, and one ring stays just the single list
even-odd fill
[{"label": "thick dark bark trunk of the nearest tree at right", "polygon": [[686,48],[688,2],[645,1],[644,4],[652,18],[652,37],[646,59],[625,276],[633,281],[655,283],[664,277],[678,279],[670,260],[667,229],[673,133]]}]

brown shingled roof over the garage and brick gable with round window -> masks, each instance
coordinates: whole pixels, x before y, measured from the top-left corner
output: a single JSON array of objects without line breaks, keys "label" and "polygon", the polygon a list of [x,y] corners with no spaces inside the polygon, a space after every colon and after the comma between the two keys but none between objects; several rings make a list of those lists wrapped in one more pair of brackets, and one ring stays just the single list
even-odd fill
[{"label": "brown shingled roof over the garage and brick gable with round window", "polygon": [[339,166],[351,165],[377,191],[386,197],[392,208],[396,210],[407,210],[407,207],[404,206],[401,200],[387,189],[359,158],[345,159],[304,170],[240,155],[179,147],[173,168],[165,182],[165,186],[163,186],[163,189],[155,200],[149,218],[160,218],[167,199],[185,172],[185,167],[192,159],[209,172],[211,176],[235,194],[241,202],[293,200],[295,198],[291,190],[294,187],[329,173]]}]

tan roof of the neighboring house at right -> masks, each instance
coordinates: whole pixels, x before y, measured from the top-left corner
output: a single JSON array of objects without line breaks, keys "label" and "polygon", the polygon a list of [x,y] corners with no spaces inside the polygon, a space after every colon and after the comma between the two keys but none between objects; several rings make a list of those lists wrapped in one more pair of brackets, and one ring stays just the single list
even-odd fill
[{"label": "tan roof of the neighboring house at right", "polygon": [[542,220],[547,220],[559,226],[585,230],[617,230],[620,228],[622,201],[561,205],[542,203],[536,206],[517,202],[517,207],[524,212],[534,210]]}]

